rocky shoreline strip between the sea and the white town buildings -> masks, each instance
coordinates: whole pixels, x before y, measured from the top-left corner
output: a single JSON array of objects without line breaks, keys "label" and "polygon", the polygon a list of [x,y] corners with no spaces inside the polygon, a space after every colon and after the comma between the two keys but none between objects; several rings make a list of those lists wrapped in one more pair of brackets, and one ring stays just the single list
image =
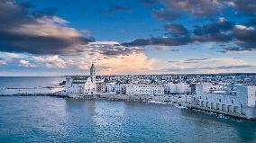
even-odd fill
[{"label": "rocky shoreline strip between the sea and the white town buildings", "polygon": [[[57,98],[68,98],[68,99],[79,99],[79,100],[107,100],[107,101],[124,101],[124,102],[138,102],[138,103],[152,103],[152,104],[165,104],[169,106],[174,106],[176,108],[184,108],[186,110],[196,110],[200,112],[210,112],[215,113],[218,115],[224,115],[227,117],[233,117],[237,119],[242,119],[245,121],[255,121],[255,119],[248,119],[245,116],[237,115],[233,113],[226,113],[221,111],[215,111],[210,109],[205,109],[197,105],[192,105],[191,103],[185,103],[177,101],[174,99],[174,96],[155,96],[155,97],[147,97],[142,98],[140,96],[132,96],[132,95],[124,95],[124,94],[96,94],[96,95],[89,95],[89,96],[80,96],[80,97],[70,97],[68,94],[0,94],[0,97],[8,97],[8,96],[50,96],[50,97],[57,97]],[[131,98],[135,97],[135,98]],[[169,98],[169,101],[165,101],[165,99]]]}]

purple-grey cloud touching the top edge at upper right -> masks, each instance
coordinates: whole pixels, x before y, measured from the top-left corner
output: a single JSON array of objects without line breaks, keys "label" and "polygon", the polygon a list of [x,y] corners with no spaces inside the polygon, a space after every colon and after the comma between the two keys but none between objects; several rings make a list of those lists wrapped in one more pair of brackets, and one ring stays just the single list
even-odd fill
[{"label": "purple-grey cloud touching the top edge at upper right", "polygon": [[227,8],[236,13],[256,14],[255,0],[142,0],[142,4],[161,4],[160,8],[152,11],[160,20],[174,20],[184,15],[206,17],[224,13]]}]

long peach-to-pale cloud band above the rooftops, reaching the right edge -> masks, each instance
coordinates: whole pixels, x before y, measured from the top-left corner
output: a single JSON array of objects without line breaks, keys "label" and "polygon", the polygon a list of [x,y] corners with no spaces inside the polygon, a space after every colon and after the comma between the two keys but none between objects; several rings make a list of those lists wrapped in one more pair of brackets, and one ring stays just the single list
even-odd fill
[{"label": "long peach-to-pale cloud band above the rooftops, reaching the right edge", "polygon": [[[116,44],[113,42],[113,45]],[[97,47],[96,47],[97,48]],[[239,72],[255,68],[242,58],[187,58],[165,62],[158,58],[149,58],[143,52],[133,52],[128,55],[117,54],[109,56],[103,52],[93,55],[84,52],[77,58],[65,59],[69,64],[80,69],[88,69],[93,62],[101,75],[116,74],[147,74],[147,73],[221,73]]]}]

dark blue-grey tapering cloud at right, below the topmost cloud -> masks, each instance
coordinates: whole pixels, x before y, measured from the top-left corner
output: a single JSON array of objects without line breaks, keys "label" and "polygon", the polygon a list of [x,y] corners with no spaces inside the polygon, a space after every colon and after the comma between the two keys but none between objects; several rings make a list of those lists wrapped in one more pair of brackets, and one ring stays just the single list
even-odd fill
[{"label": "dark blue-grey tapering cloud at right, below the topmost cloud", "polygon": [[[256,29],[245,25],[234,24],[218,18],[215,22],[208,22],[203,25],[196,25],[192,31],[188,31],[183,25],[169,23],[164,25],[167,33],[160,37],[150,39],[135,39],[124,42],[124,46],[181,46],[195,42],[217,42],[224,52],[229,50],[254,50],[256,49]],[[229,43],[233,43],[233,46]]]}]

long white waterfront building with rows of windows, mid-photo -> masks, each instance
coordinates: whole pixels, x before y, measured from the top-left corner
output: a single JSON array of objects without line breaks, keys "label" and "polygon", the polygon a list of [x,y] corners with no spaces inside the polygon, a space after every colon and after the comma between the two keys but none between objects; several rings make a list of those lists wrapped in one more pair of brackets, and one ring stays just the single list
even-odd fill
[{"label": "long white waterfront building with rows of windows, mid-photo", "polygon": [[125,85],[125,94],[128,95],[162,95],[164,94],[163,85]]}]

